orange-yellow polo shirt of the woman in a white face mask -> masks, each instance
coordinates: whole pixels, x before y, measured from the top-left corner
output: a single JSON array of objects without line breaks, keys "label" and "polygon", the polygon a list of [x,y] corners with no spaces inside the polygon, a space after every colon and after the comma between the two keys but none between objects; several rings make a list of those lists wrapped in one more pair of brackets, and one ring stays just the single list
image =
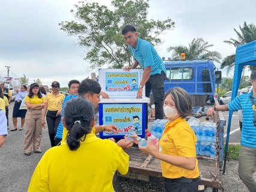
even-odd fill
[{"label": "orange-yellow polo shirt of the woman in a white face mask", "polygon": [[[162,154],[183,157],[196,157],[195,143],[197,137],[194,131],[187,124],[186,119],[177,118],[171,124],[165,125],[163,136],[160,139]],[[198,178],[199,169],[198,161],[194,170],[187,170],[181,167],[176,167],[172,164],[161,161],[162,175],[165,178],[176,179],[184,176],[185,178]]]}]

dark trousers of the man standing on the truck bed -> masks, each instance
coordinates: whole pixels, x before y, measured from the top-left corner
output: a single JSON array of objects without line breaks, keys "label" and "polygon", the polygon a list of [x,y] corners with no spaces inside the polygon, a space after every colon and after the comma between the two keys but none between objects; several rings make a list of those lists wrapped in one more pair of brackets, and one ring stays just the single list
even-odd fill
[{"label": "dark trousers of the man standing on the truck bed", "polygon": [[[150,91],[152,89],[154,97],[154,106],[156,111],[155,119],[163,119],[163,97],[165,97],[165,72],[161,74],[153,74],[145,84],[145,96],[150,97]],[[146,126],[148,128],[148,107],[146,106]]]}]

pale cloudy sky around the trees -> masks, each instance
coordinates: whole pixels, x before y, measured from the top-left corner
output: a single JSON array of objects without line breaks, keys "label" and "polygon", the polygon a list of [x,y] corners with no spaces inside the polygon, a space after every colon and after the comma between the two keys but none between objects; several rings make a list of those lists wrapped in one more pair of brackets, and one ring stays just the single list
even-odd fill
[{"label": "pale cloudy sky around the trees", "polygon": [[[111,1],[94,2],[110,6]],[[58,26],[59,22],[74,19],[70,13],[74,4],[78,1],[0,1],[0,75],[7,76],[5,66],[10,66],[9,76],[25,74],[29,83],[39,78],[44,85],[57,80],[61,87],[71,79],[90,76],[82,59],[84,50],[74,46],[76,37],[68,37]],[[239,29],[245,21],[256,25],[255,0],[150,0],[149,4],[148,19],[171,17],[176,23],[173,31],[161,36],[165,43],[158,50],[165,58],[171,56],[166,52],[168,46],[187,46],[197,37],[214,44],[212,50],[224,58],[236,51],[223,42],[237,38],[234,28]]]}]

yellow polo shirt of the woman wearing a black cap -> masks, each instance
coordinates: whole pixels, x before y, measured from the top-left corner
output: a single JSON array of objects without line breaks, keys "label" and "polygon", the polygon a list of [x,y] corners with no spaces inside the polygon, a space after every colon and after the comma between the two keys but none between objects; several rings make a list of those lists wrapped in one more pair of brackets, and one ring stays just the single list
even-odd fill
[{"label": "yellow polo shirt of the woman wearing a black cap", "polygon": [[64,97],[60,92],[57,96],[54,96],[52,92],[47,94],[45,98],[45,103],[48,103],[47,110],[55,111],[61,109]]}]

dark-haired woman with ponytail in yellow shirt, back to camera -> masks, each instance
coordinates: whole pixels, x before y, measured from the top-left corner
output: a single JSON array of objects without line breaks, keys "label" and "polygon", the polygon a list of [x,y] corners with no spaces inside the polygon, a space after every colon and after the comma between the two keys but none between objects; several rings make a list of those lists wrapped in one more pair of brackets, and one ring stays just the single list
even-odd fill
[{"label": "dark-haired woman with ponytail in yellow shirt, back to camera", "polygon": [[91,133],[94,120],[91,101],[67,101],[62,118],[67,138],[43,155],[28,191],[114,191],[114,173],[128,172],[129,156],[116,143]]}]

